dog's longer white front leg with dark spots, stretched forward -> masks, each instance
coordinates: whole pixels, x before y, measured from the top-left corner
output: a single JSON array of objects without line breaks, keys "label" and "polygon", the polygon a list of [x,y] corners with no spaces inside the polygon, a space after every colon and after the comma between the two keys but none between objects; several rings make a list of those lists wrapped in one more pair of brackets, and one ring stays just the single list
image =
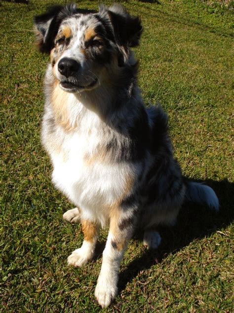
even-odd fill
[{"label": "dog's longer white front leg with dark spots, stretched forward", "polygon": [[117,212],[110,218],[110,231],[98,277],[95,296],[102,308],[108,307],[117,296],[117,282],[120,262],[128,241],[131,239],[136,216],[134,211]]}]

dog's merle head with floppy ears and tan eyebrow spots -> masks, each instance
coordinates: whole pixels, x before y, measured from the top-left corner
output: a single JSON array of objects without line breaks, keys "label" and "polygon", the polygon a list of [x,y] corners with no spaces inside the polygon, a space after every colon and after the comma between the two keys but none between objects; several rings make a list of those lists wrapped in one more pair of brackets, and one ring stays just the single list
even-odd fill
[{"label": "dog's merle head with floppy ears and tan eyebrow spots", "polygon": [[105,70],[128,66],[142,33],[140,19],[117,4],[99,12],[55,6],[34,24],[39,50],[50,53],[53,75],[67,92],[97,88]]}]

